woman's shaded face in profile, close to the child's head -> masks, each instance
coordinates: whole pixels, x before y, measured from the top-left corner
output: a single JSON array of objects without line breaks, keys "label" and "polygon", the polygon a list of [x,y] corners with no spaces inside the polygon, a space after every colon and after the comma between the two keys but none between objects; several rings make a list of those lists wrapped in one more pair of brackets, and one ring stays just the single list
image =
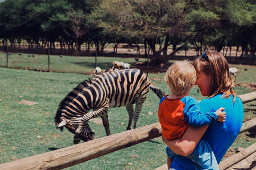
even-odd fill
[{"label": "woman's shaded face in profile, close to the child's head", "polygon": [[199,87],[201,95],[210,96],[210,82],[212,78],[203,72],[196,73],[196,84]]}]

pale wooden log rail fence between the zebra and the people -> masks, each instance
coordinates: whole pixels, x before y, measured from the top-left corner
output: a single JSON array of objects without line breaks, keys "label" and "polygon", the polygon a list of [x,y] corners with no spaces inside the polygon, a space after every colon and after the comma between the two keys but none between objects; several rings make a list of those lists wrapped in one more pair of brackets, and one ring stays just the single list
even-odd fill
[{"label": "pale wooden log rail fence between the zebra and the people", "polygon": [[[256,92],[239,96],[243,103],[256,99]],[[240,133],[256,126],[256,118],[243,124]],[[160,137],[162,129],[159,123],[123,131],[93,141],[60,148],[44,154],[30,156],[0,165],[0,169],[62,169],[97,158],[111,152],[127,148],[138,143]],[[255,147],[254,147],[255,148]],[[254,150],[255,151],[255,150]]]}]

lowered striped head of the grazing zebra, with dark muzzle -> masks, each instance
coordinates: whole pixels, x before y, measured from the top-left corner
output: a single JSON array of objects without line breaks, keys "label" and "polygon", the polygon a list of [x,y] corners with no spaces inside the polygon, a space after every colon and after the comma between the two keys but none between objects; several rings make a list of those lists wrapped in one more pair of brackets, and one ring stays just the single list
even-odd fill
[{"label": "lowered striped head of the grazing zebra, with dark muzzle", "polygon": [[73,143],[75,144],[79,143],[81,139],[84,142],[93,140],[95,134],[92,129],[90,129],[90,126],[88,124],[85,124],[82,126],[81,129],[79,128],[80,122],[80,118],[77,121],[67,121],[65,118],[63,118],[60,122],[56,122],[56,125],[57,128],[59,128],[60,130],[63,130],[63,127],[65,126],[65,128],[67,128],[71,133],[75,134],[73,140]]}]

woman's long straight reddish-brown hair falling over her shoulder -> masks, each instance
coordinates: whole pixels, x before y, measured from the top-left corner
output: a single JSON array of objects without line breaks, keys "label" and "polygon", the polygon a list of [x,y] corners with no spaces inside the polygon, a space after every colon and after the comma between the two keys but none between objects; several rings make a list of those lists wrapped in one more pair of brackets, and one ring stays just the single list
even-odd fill
[{"label": "woman's long straight reddish-brown hair falling over her shoulder", "polygon": [[232,90],[234,82],[229,74],[228,62],[221,53],[207,51],[193,61],[193,66],[197,73],[203,72],[212,78],[208,98],[217,94],[223,94],[224,98],[233,95],[233,102],[235,101],[236,92]]}]

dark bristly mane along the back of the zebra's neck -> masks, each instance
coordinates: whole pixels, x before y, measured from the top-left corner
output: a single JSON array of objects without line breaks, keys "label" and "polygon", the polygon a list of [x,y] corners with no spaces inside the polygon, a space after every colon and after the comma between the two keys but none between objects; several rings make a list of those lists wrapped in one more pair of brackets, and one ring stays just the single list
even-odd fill
[{"label": "dark bristly mane along the back of the zebra's neck", "polygon": [[[97,76],[96,76],[97,77]],[[95,77],[95,78],[96,78]],[[55,119],[55,124],[59,124],[61,122],[61,113],[63,113],[63,111],[65,111],[67,109],[67,107],[69,106],[69,104],[73,101],[73,99],[75,99],[75,97],[77,96],[77,94],[79,94],[79,92],[82,91],[82,88],[86,88],[88,86],[90,86],[90,84],[93,83],[93,79],[88,78],[88,80],[84,80],[83,82],[79,83],[75,88],[73,88],[73,90],[71,92],[69,92],[69,94],[67,96],[65,96],[65,98],[60,102],[59,104],[59,108],[57,109],[56,112],[56,116],[54,117]],[[60,130],[63,130],[63,127],[60,128]]]}]

